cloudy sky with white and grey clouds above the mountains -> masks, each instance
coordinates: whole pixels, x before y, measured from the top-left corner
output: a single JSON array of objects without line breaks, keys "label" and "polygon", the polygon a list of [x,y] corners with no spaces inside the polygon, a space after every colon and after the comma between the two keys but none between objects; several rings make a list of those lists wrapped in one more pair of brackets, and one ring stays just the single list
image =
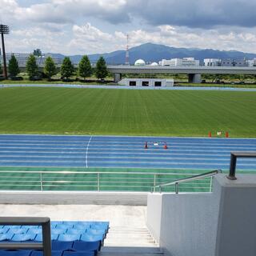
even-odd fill
[{"label": "cloudy sky with white and grey clouds above the mountains", "polygon": [[145,42],[256,53],[256,0],[0,0],[8,52],[94,54]]}]

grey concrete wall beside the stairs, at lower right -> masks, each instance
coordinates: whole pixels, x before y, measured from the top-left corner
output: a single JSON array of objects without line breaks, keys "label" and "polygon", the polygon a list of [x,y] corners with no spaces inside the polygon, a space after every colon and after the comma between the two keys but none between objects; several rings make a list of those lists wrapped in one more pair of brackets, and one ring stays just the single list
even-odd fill
[{"label": "grey concrete wall beside the stairs, at lower right", "polygon": [[147,225],[166,255],[255,256],[255,198],[256,175],[218,174],[213,193],[149,194]]}]

